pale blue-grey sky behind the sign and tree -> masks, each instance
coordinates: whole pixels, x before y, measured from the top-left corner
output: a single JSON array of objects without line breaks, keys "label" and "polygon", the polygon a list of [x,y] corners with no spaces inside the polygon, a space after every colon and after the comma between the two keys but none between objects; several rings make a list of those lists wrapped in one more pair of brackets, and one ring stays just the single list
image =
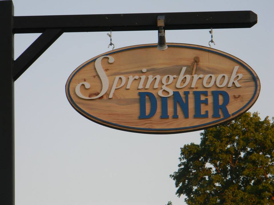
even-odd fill
[{"label": "pale blue-grey sky behind the sign and tree", "polygon": [[[14,0],[15,16],[251,10],[252,28],[214,29],[212,48],[249,64],[261,82],[249,110],[273,117],[274,1]],[[208,46],[205,30],[167,30],[166,41]],[[96,124],[69,104],[65,84],[80,64],[109,51],[107,32],[64,33],[15,81],[16,205],[173,205],[169,175],[180,147],[200,143],[200,132],[138,134]],[[15,34],[15,59],[40,34]],[[112,32],[115,48],[156,43],[157,31]]]}]

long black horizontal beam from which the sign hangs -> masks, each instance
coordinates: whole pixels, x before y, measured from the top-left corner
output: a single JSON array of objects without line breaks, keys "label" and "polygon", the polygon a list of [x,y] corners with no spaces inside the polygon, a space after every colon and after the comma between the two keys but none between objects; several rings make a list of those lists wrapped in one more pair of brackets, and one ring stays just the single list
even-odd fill
[{"label": "long black horizontal beam from which the sign hangs", "polygon": [[64,32],[157,30],[157,16],[165,15],[166,30],[250,28],[257,23],[252,11],[184,13],[138,13],[14,17],[14,33],[41,33],[45,29]]}]

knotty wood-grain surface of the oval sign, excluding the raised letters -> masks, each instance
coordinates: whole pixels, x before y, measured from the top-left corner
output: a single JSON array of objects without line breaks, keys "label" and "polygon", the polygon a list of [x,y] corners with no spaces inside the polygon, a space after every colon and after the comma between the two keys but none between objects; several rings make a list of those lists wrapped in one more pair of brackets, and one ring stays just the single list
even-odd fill
[{"label": "knotty wood-grain surface of the oval sign, excluding the raised letters", "polygon": [[[107,92],[97,99],[82,99],[76,95],[75,88],[79,83],[87,82],[90,88],[86,89],[84,85],[80,86],[80,92],[86,97],[95,97],[102,90],[102,80],[96,72],[94,62],[100,56],[112,56],[113,63],[108,62],[108,58],[102,59],[102,67],[109,81]],[[242,74],[242,78],[237,82],[241,87],[236,87],[232,83],[231,87],[227,84],[224,87],[216,85],[216,79],[220,74],[225,74],[228,81],[231,77],[235,66],[239,66],[237,74]],[[176,88],[176,82],[183,67],[186,67],[184,75],[190,75],[190,83],[186,87]],[[146,69],[146,72],[143,72]],[[143,70],[143,71],[142,71]],[[212,87],[205,87],[204,78],[199,78],[195,87],[191,87],[194,75],[215,76]],[[129,76],[139,76],[134,79],[130,89],[126,89]],[[145,75],[143,88],[139,88],[140,76]],[[146,89],[148,76],[160,75],[159,87],[154,89],[155,80],[152,81],[150,88]],[[177,104],[178,118],[174,115],[174,97],[168,97],[168,115],[169,118],[162,119],[161,97],[158,91],[162,89],[162,78],[165,75],[176,75],[173,82],[166,87],[173,91],[179,91],[182,99],[185,101],[184,91],[189,91],[189,117],[186,118],[184,112]],[[125,84],[115,89],[113,97],[109,98],[114,79],[117,76],[124,76]],[[184,83],[186,78],[182,81]],[[221,78],[222,83],[224,77]],[[168,80],[167,80],[168,81]],[[209,78],[206,82],[208,85],[211,81]],[[117,86],[120,85],[121,79],[118,80]],[[200,103],[201,114],[208,111],[207,118],[194,118],[195,99],[193,91],[207,91],[208,96],[201,95],[201,99],[208,99],[208,104]],[[220,117],[214,118],[213,115],[213,96],[211,91],[225,91],[229,95],[227,110],[229,117],[224,117],[220,109]],[[157,111],[154,116],[148,119],[139,119],[140,116],[140,95],[139,92],[153,93],[157,99]],[[168,49],[162,51],[157,49],[157,44],[145,44],[129,46],[100,54],[76,68],[68,78],[66,84],[66,94],[68,101],[76,111],[86,118],[99,124],[130,132],[141,132],[151,134],[171,134],[180,132],[190,132],[202,130],[207,127],[216,126],[220,123],[232,120],[233,118],[246,112],[257,100],[260,92],[260,82],[256,73],[242,60],[215,50],[212,48],[197,46],[191,44],[168,44]],[[163,91],[164,95],[168,92]],[[219,96],[219,104],[223,103],[223,98]],[[146,98],[146,113],[150,112],[150,100]]]}]

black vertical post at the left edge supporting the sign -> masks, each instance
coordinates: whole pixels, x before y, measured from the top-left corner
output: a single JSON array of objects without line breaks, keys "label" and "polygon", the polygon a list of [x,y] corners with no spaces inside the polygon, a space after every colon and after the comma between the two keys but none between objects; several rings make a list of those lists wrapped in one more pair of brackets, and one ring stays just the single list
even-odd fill
[{"label": "black vertical post at the left edge supporting the sign", "polygon": [[0,204],[14,204],[13,3],[0,1]]}]

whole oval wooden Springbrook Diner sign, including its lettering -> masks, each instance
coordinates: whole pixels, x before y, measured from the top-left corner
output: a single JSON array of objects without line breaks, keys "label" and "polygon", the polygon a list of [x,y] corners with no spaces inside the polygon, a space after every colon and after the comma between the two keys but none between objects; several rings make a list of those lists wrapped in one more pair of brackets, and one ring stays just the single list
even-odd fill
[{"label": "whole oval wooden Springbrook Diner sign, including its lettering", "polygon": [[171,134],[217,126],[246,112],[260,82],[242,60],[190,44],[116,49],[76,68],[68,101],[86,118],[111,128]]}]

